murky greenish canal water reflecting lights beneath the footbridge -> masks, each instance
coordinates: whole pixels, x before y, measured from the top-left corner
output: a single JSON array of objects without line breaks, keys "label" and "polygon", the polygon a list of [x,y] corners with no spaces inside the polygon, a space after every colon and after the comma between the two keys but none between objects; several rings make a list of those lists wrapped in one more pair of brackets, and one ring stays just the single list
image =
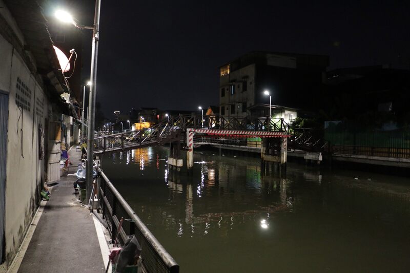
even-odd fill
[{"label": "murky greenish canal water reflecting lights beneath the footbridge", "polygon": [[[181,272],[409,272],[410,179],[165,147],[105,155],[103,170]],[[184,164],[185,161],[184,161]]]}]

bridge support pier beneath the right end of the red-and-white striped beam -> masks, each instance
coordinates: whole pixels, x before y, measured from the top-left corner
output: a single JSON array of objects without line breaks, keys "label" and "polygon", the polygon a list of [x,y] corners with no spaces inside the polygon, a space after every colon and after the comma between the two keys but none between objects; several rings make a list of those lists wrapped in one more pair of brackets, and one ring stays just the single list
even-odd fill
[{"label": "bridge support pier beneath the right end of the red-and-white striped beam", "polygon": [[[260,158],[261,173],[268,173],[266,166],[268,162],[272,163],[272,174],[274,163],[280,165],[281,172],[286,172],[286,161],[288,157],[288,139],[285,137],[262,138]],[[263,170],[262,170],[263,169]]]}]

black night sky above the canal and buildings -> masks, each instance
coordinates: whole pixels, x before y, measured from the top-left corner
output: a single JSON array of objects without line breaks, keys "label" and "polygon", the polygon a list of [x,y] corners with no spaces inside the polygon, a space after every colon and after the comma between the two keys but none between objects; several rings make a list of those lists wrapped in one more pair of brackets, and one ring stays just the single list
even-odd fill
[{"label": "black night sky above the canal and buildings", "polygon": [[[329,69],[408,68],[409,3],[102,0],[97,100],[109,118],[132,107],[218,104],[218,66],[254,50],[329,55]],[[83,9],[86,24],[93,6]],[[91,34],[86,41],[90,54]]]}]

